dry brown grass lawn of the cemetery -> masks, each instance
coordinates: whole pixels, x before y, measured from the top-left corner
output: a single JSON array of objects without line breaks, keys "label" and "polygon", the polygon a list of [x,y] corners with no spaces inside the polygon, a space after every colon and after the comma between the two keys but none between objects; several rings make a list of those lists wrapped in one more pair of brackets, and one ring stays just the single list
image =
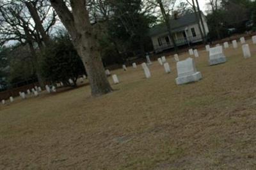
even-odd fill
[{"label": "dry brown grass lawn of the cemetery", "polygon": [[166,56],[170,74],[113,70],[102,97],[83,86],[1,105],[0,169],[255,169],[256,45],[244,59],[238,44],[216,66],[199,49],[199,82],[177,86]]}]

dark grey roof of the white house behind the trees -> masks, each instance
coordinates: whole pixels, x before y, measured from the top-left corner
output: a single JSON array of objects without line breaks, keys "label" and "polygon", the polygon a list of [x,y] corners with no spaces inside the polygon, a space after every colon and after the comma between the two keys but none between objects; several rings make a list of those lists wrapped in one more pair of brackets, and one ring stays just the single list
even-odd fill
[{"label": "dark grey roof of the white house behind the trees", "polygon": [[[195,24],[196,22],[197,21],[195,13],[188,13],[182,17],[179,17],[178,19],[171,19],[170,26],[173,32],[177,32],[181,31],[183,27],[189,26],[190,24]],[[149,36],[159,35],[161,33],[166,33],[167,31],[168,30],[165,23],[159,24],[150,28]]]}]

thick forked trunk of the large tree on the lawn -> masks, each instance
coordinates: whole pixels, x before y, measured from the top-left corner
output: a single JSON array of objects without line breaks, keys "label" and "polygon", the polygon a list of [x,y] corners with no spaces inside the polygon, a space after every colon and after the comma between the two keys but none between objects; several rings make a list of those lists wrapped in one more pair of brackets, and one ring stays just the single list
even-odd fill
[{"label": "thick forked trunk of the large tree on the lawn", "polygon": [[63,0],[51,0],[51,4],[70,33],[72,43],[84,63],[92,95],[100,96],[113,91],[100,58],[98,35],[90,24],[86,2],[70,0],[72,13]]}]

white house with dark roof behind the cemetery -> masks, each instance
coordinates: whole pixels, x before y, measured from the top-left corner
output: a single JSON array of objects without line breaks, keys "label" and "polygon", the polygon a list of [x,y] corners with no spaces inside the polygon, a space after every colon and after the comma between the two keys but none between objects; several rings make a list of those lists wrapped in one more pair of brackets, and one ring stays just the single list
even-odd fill
[{"label": "white house with dark roof behind the cemetery", "polygon": [[[209,33],[207,22],[204,14],[202,13],[203,24],[205,27],[205,34]],[[202,42],[202,36],[200,35],[200,29],[195,13],[188,13],[182,17],[170,20],[173,37],[177,45],[186,45],[189,43]],[[202,22],[200,22],[202,27]],[[203,30],[203,29],[202,29]],[[173,47],[172,40],[168,34],[168,30],[165,24],[159,24],[154,26],[149,31],[154,50],[156,52],[170,49]]]}]

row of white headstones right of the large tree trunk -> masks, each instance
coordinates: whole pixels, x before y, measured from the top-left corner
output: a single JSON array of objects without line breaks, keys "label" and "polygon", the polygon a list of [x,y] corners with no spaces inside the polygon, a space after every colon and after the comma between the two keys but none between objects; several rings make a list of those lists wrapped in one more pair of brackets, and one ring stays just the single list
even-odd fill
[{"label": "row of white headstones right of the large tree trunk", "polygon": [[[256,43],[256,36],[252,36],[252,41],[255,44]],[[251,57],[251,52],[250,52],[250,47],[248,44],[245,43],[244,37],[240,38],[240,42],[243,44],[242,49],[243,49],[243,55],[244,58],[249,58]],[[224,44],[225,48],[228,48],[228,42],[225,42]],[[232,41],[232,45],[234,49],[237,48],[237,42],[236,40]],[[221,45],[216,45],[216,47],[211,48],[209,45],[205,46],[206,50],[209,51],[209,65],[218,65],[220,63],[225,63],[227,61],[225,55],[223,54],[223,49]],[[198,51],[195,49],[189,49],[189,55],[192,56],[194,55],[196,58],[199,57]],[[148,65],[151,65],[151,61],[149,59],[149,56],[146,56],[147,58],[147,64],[142,63],[142,68],[145,73],[146,78],[151,77],[150,70],[148,68]],[[199,81],[202,79],[202,74],[201,72],[197,72],[196,67],[195,67],[195,61],[192,58],[185,59],[184,61],[179,61],[179,56],[178,54],[174,55],[174,59],[177,62],[177,74],[178,77],[175,79],[176,83],[179,84],[186,84],[188,82],[195,82]],[[166,58],[163,56],[161,58],[158,58],[157,61],[159,62],[160,65],[164,66],[164,70],[166,73],[170,73],[170,65],[166,62]],[[132,63],[133,68],[137,68],[136,63]],[[127,71],[127,68],[125,65],[123,65],[123,69]],[[109,70],[108,70],[109,71]],[[117,75],[113,75],[113,82],[115,84],[118,84],[118,77]]]}]

